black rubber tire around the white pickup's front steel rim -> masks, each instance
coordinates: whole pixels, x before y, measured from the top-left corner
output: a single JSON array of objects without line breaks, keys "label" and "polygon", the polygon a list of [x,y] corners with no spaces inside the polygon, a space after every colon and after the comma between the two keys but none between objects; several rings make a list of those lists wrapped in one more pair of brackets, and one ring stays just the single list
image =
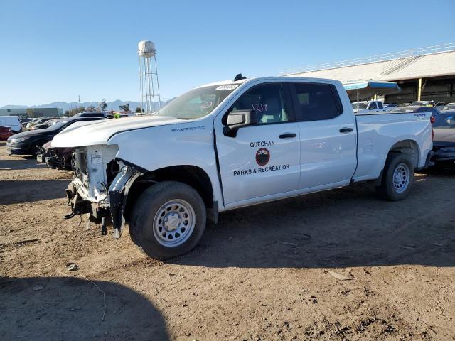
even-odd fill
[{"label": "black rubber tire around the white pickup's front steel rim", "polygon": [[[158,215],[159,212],[162,212],[164,205],[171,200],[184,200],[184,202],[191,205],[195,215],[195,223],[194,225],[191,224],[193,231],[191,234],[187,232],[188,239],[183,244],[167,247],[161,243],[169,241],[167,239],[163,241],[156,236],[157,233],[167,232],[167,230],[162,229],[161,232],[158,232],[157,229],[159,229],[160,225],[156,224],[154,232],[154,221],[161,217]],[[148,256],[154,259],[165,260],[186,254],[196,247],[204,232],[205,221],[205,205],[199,193],[194,188],[176,181],[164,181],[147,188],[138,197],[129,219],[129,234],[134,244],[137,244],[139,249],[144,251]],[[183,225],[179,226],[185,229]]]}]

